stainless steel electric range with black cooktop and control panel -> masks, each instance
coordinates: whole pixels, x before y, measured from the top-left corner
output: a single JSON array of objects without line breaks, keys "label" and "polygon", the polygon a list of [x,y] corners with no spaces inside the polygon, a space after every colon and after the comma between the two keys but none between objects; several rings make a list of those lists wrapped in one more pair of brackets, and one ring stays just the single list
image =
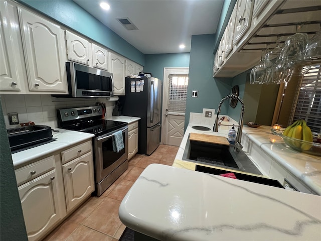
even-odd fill
[{"label": "stainless steel electric range with black cooktop and control panel", "polygon": [[[128,125],[102,118],[102,106],[57,109],[58,127],[92,133],[96,193],[100,196],[128,168]],[[124,148],[113,151],[113,136],[121,131]]]}]

